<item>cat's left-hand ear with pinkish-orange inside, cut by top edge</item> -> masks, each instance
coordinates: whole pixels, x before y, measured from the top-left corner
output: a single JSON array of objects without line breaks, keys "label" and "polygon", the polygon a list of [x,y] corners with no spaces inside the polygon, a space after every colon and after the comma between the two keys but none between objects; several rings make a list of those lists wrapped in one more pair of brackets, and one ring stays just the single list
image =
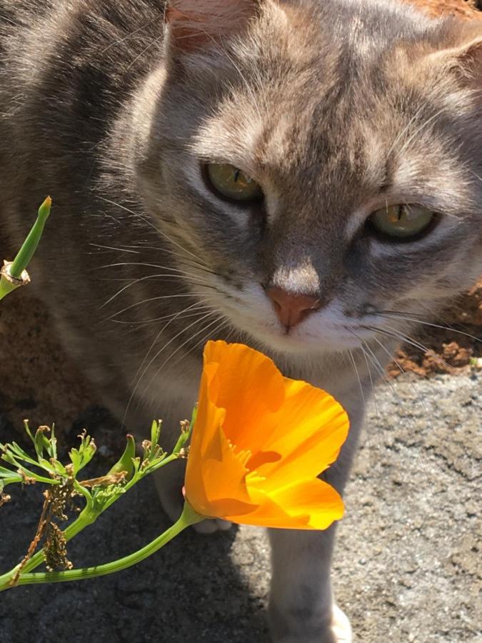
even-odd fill
[{"label": "cat's left-hand ear with pinkish-orange inside, cut by top edge", "polygon": [[258,12],[261,0],[169,0],[169,41],[180,51],[203,49],[242,31]]}]

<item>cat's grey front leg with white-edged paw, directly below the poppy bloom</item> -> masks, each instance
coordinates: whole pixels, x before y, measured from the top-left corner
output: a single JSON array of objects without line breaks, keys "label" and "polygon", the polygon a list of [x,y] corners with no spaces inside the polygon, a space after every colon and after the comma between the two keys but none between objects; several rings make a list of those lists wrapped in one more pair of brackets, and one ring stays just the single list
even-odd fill
[{"label": "cat's grey front leg with white-edged paw, directly below the poppy bloom", "polygon": [[330,582],[335,527],[324,532],[270,529],[273,643],[349,643],[351,628],[333,606]]}]

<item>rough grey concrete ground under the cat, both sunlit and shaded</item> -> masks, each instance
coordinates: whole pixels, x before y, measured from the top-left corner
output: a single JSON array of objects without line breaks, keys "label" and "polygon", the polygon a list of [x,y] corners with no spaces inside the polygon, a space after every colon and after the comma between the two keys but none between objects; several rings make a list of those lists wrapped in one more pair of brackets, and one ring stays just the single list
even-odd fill
[{"label": "rough grey concrete ground under the cat, both sunlit and shaded", "polygon": [[[482,375],[405,377],[377,394],[346,496],[333,569],[364,643],[482,642]],[[11,439],[0,422],[0,441]],[[0,510],[0,570],[26,551],[38,491]],[[149,480],[69,549],[77,567],[166,527]],[[184,532],[116,576],[0,596],[0,643],[266,641],[263,530]],[[300,642],[303,643],[303,642]]]}]

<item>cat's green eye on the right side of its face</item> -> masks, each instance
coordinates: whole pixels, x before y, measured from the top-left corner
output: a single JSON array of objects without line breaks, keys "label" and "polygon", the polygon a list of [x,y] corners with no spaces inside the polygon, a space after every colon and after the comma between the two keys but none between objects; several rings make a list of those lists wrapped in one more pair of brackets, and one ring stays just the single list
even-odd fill
[{"label": "cat's green eye on the right side of its face", "polygon": [[385,236],[393,239],[409,239],[428,228],[435,212],[416,205],[387,206],[371,214],[369,221]]}]

